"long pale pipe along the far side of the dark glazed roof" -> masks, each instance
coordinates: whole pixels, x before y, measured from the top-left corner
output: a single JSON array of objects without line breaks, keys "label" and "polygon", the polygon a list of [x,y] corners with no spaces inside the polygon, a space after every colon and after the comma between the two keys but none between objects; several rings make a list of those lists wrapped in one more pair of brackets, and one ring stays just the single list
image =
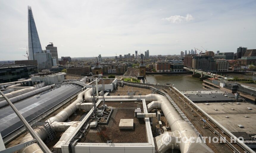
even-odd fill
[{"label": "long pale pipe along the far side of the dark glazed roof", "polygon": [[[42,87],[42,88],[39,88],[39,89],[36,89],[36,90],[33,90],[33,89],[35,89],[35,87],[22,89],[22,90],[32,90],[32,91],[29,91],[29,92],[27,92],[27,93],[23,93],[23,94],[21,94],[21,95],[17,95],[17,96],[15,96],[15,97],[10,98],[9,100],[10,100],[12,103],[14,103],[14,102],[17,102],[17,101],[19,101],[19,100],[25,99],[25,98],[27,98],[27,97],[33,96],[33,95],[35,95],[35,94],[38,94],[38,93],[40,93],[40,92],[43,92],[43,91],[45,91],[45,90],[51,89],[52,87],[54,87],[54,85],[55,85],[55,84],[53,84],[53,85],[47,85],[47,86],[45,86],[45,87]],[[14,91],[14,92],[12,92],[12,93],[14,93],[14,95],[15,95],[15,94],[17,94],[18,91],[19,91],[19,90]],[[19,93],[19,92],[18,92],[18,93]],[[3,106],[5,106],[5,105],[7,105],[7,104],[8,104],[8,102],[7,102],[6,100],[3,100],[3,101],[0,102],[0,107],[3,107]]]}]

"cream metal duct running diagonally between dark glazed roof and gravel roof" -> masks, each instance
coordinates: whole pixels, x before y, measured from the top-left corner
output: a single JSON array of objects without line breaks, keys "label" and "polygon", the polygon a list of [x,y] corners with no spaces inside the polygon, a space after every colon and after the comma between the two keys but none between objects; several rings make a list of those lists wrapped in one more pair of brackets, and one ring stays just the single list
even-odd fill
[{"label": "cream metal duct running diagonally between dark glazed roof and gravel roof", "polygon": [[[84,91],[82,91],[81,93],[78,94],[77,99],[71,103],[70,105],[68,105],[64,110],[62,110],[61,112],[59,112],[57,115],[49,118],[46,122],[49,123],[54,123],[54,125],[56,125],[57,127],[60,127],[59,123],[57,122],[63,122],[65,121],[68,116],[72,115],[75,110],[77,110],[76,104],[78,103],[82,103],[84,102],[83,100],[83,95],[86,93],[86,91],[88,91],[90,88],[85,89]],[[78,124],[78,122],[73,122],[74,124]],[[60,123],[61,124],[61,123]],[[69,123],[65,123],[65,125],[63,126],[64,129],[66,129],[68,127]],[[54,129],[54,127],[52,127]],[[46,139],[47,133],[46,133],[46,129],[44,126],[39,126],[37,128],[34,129],[34,131],[38,134],[38,136],[44,140]],[[21,140],[20,143],[24,143],[24,142],[28,142],[30,140],[33,140],[32,136],[30,134],[25,135],[25,137]],[[38,144],[32,144],[30,146],[27,146],[23,149],[20,149],[18,151],[19,153],[43,153],[43,151],[40,149],[40,147],[38,146]]]}]

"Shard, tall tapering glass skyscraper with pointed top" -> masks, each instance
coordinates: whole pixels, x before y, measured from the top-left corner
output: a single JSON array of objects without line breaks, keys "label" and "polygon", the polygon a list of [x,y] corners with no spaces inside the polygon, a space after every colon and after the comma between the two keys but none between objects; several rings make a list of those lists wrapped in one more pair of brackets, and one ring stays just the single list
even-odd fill
[{"label": "Shard, tall tapering glass skyscraper with pointed top", "polygon": [[38,32],[35,26],[35,20],[32,9],[28,6],[28,40],[29,40],[29,60],[34,60],[34,54],[42,51]]}]

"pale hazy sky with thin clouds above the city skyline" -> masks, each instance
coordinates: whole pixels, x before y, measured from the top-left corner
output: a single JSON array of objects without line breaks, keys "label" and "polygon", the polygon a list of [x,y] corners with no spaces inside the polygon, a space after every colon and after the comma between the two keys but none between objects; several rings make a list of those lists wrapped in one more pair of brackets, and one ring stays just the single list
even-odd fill
[{"label": "pale hazy sky with thin clouds above the city skyline", "polygon": [[59,58],[256,48],[255,0],[0,0],[0,60],[26,59],[28,5],[42,49],[53,42]]}]

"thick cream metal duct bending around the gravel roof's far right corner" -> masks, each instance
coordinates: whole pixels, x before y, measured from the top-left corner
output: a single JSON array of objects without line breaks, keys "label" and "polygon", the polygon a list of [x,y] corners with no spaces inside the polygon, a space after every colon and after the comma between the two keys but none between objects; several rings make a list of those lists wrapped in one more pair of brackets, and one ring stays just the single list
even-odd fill
[{"label": "thick cream metal duct bending around the gravel roof's far right corner", "polygon": [[[89,91],[89,90],[88,90]],[[86,96],[90,94],[86,93]],[[105,96],[105,99],[134,99],[133,96]],[[163,114],[165,115],[165,118],[168,121],[168,124],[171,126],[172,131],[178,131],[179,132],[179,138],[184,138],[185,140],[189,141],[181,141],[179,143],[179,150],[181,153],[188,153],[188,152],[213,152],[204,142],[198,142],[196,143],[198,138],[198,135],[193,130],[193,128],[177,113],[177,111],[174,109],[174,107],[170,104],[170,102],[166,99],[166,97],[159,95],[159,94],[148,94],[148,95],[141,95],[141,99],[145,99],[146,102],[152,102],[152,101],[162,101],[161,103],[161,110],[163,111]],[[92,96],[85,97],[87,99],[87,102],[92,102]],[[99,97],[101,99],[101,97]],[[156,102],[154,102],[156,104]],[[158,103],[159,104],[159,103]],[[151,104],[154,105],[154,104]],[[154,105],[155,106],[155,105]],[[159,107],[160,105],[158,105]],[[151,107],[152,109],[152,107]],[[172,134],[171,134],[172,135]],[[156,137],[159,138],[159,141],[156,141],[157,144],[157,152],[165,152],[166,150],[170,149],[172,145],[175,145],[171,142],[166,143],[163,139],[160,137],[163,137],[162,135]]]}]

